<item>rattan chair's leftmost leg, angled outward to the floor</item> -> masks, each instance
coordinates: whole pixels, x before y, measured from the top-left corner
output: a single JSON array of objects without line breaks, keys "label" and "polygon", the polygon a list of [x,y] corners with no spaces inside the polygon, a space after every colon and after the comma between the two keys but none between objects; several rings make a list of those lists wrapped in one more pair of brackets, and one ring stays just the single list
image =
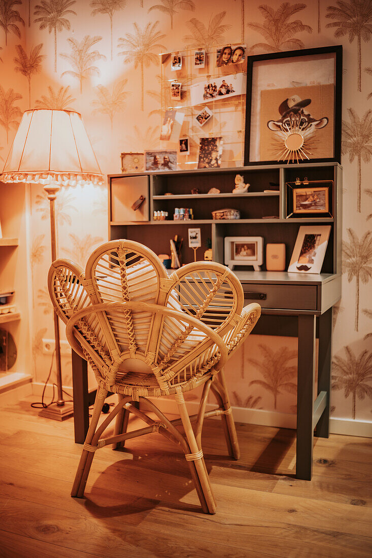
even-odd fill
[{"label": "rattan chair's leftmost leg, angled outward to the floor", "polygon": [[[96,432],[99,416],[101,415],[104,400],[107,396],[107,389],[98,388],[96,401],[94,401],[94,408],[92,419],[90,420],[87,437],[84,444],[90,444],[93,439],[94,432]],[[84,495],[85,485],[87,484],[90,465],[92,465],[94,452],[83,449],[82,456],[80,457],[79,466],[75,475],[74,484],[71,490],[72,497],[82,498]]]}]

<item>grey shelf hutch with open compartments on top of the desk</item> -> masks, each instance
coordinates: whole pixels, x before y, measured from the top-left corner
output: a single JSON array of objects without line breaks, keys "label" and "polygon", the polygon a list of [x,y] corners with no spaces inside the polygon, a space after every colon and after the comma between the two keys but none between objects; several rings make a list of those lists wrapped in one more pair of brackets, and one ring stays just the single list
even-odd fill
[{"label": "grey shelf hutch with open compartments on top of the desk", "polygon": [[[235,176],[240,174],[250,184],[244,194],[233,194]],[[331,215],[309,217],[287,215],[287,182],[328,180],[333,184]],[[261,236],[267,243],[284,243],[285,265],[288,268],[293,247],[301,225],[330,224],[323,273],[341,272],[341,189],[342,167],[335,162],[301,163],[300,165],[251,165],[222,169],[194,169],[184,171],[149,171],[109,175],[109,238],[137,240],[155,253],[169,253],[169,240],[176,234],[184,238],[182,263],[193,261],[193,250],[188,248],[187,228],[199,227],[202,247],[197,257],[203,259],[207,239],[211,239],[214,261],[224,263],[224,238],[229,236]],[[208,194],[215,187],[220,194]],[[278,188],[278,190],[276,190]],[[198,194],[192,194],[198,189]],[[264,191],[274,190],[274,191]],[[165,195],[171,194],[171,195]],[[146,210],[133,211],[132,204],[143,195]],[[192,208],[194,219],[174,220],[175,208]],[[125,208],[123,213],[121,208]],[[240,219],[214,220],[212,211],[225,208],[240,211]],[[154,220],[154,211],[168,211],[167,220]],[[122,215],[130,220],[121,218]],[[139,227],[139,225],[141,225]],[[156,225],[156,229],[154,229]],[[164,225],[164,226],[162,226]],[[154,233],[156,230],[156,233]],[[261,267],[265,271],[265,263]]]}]

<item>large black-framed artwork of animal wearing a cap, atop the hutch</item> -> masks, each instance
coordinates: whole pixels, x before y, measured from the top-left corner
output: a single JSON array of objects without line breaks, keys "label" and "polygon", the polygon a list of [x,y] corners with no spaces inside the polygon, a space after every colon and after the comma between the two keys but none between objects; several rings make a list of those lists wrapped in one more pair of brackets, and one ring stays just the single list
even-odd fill
[{"label": "large black-framed artwork of animal wearing a cap, atop the hutch", "polygon": [[244,164],[341,162],[342,46],[247,58]]}]

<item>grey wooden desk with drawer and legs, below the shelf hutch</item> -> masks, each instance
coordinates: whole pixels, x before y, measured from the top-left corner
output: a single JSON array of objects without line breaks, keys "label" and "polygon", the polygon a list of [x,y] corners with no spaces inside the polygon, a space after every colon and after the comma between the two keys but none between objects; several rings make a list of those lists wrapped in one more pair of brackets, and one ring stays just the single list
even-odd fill
[{"label": "grey wooden desk with drawer and legs, below the shelf hutch", "polygon": [[[298,337],[296,477],[311,480],[313,436],[328,437],[332,358],[332,306],[341,298],[341,275],[236,271],[246,304],[257,301],[262,315],[252,334]],[[314,397],[318,338],[317,397]],[[75,442],[89,426],[87,363],[73,352]]]}]

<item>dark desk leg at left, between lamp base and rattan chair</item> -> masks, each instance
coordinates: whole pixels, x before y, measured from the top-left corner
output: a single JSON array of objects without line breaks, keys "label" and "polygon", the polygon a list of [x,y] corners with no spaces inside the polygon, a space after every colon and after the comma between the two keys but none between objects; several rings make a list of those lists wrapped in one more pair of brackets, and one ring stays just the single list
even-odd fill
[{"label": "dark desk leg at left, between lamp base and rattan chair", "polygon": [[72,351],[75,444],[84,444],[89,428],[87,361]]}]

